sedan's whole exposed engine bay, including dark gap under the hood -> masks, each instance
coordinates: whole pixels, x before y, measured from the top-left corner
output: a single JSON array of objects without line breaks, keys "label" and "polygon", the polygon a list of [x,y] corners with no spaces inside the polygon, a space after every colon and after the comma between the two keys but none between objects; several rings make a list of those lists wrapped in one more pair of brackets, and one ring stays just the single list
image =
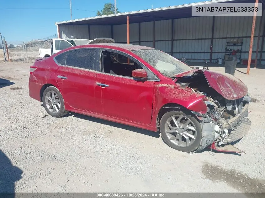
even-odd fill
[{"label": "sedan's whole exposed engine bay, including dark gap under the hood", "polygon": [[[213,146],[225,145],[240,140],[249,130],[248,104],[251,98],[226,99],[213,89],[203,72],[193,73],[175,80],[182,88],[204,95],[208,101],[206,114],[192,112],[201,121],[202,140],[198,150],[214,143]],[[197,150],[197,151],[198,151]]]}]

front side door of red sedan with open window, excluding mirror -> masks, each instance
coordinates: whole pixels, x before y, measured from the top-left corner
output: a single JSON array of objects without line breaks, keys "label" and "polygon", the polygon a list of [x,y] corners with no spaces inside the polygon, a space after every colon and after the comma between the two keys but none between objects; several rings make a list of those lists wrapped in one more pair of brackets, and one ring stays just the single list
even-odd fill
[{"label": "front side door of red sedan with open window, excluding mirror", "polygon": [[155,81],[133,79],[131,71],[144,66],[133,60],[128,64],[128,57],[102,52],[103,72],[97,74],[95,96],[101,97],[102,114],[150,124]]}]

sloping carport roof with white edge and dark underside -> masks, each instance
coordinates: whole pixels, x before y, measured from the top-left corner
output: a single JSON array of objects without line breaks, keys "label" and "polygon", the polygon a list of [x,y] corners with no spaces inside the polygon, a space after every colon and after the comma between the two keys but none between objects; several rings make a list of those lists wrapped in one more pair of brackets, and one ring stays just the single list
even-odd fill
[{"label": "sloping carport roof with white edge and dark underside", "polygon": [[[155,9],[147,9],[140,10],[134,12],[126,12],[126,13],[118,13],[118,14],[110,14],[104,16],[96,16],[90,18],[82,18],[75,19],[70,21],[57,22],[55,24],[69,24],[69,25],[114,25],[114,24],[124,24],[126,23],[126,16],[129,15],[130,23],[138,23],[138,22],[147,22],[153,20],[166,20],[172,18],[188,18],[191,16],[191,7],[197,5],[206,5],[209,3],[254,3],[254,0],[211,0],[199,3],[189,3],[178,6],[169,6],[164,8],[155,8]],[[176,9],[179,9],[176,12]],[[165,12],[167,14],[165,15]],[[167,16],[167,17],[165,17]]]}]

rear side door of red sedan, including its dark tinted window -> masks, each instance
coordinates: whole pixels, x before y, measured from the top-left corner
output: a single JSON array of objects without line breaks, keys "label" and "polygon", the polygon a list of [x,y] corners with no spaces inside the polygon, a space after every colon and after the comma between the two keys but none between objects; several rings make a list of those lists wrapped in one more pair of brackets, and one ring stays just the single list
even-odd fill
[{"label": "rear side door of red sedan, including its dark tinted window", "polygon": [[95,48],[80,48],[58,58],[61,63],[56,70],[57,84],[65,102],[72,108],[97,112],[94,95],[96,72],[99,71],[94,67],[97,52]]}]

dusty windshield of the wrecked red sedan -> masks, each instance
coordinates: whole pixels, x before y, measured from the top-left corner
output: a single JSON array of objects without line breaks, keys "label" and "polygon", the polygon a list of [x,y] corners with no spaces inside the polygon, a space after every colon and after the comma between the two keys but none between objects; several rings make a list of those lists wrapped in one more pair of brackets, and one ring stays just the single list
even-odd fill
[{"label": "dusty windshield of the wrecked red sedan", "polygon": [[174,77],[175,74],[193,70],[177,58],[157,49],[140,49],[132,52],[167,77]]}]

